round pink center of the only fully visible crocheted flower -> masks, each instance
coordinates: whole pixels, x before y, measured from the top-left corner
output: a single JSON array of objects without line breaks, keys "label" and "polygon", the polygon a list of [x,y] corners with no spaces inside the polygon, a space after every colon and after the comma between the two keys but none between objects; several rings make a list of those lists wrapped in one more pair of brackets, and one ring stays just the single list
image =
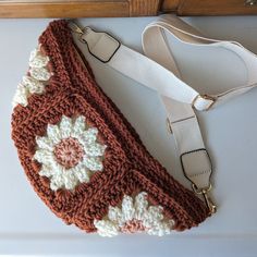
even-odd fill
[{"label": "round pink center of the only fully visible crocheted flower", "polygon": [[79,161],[82,161],[83,156],[85,155],[83,146],[74,137],[62,139],[58,145],[56,145],[53,154],[57,162],[65,169],[75,167]]}]

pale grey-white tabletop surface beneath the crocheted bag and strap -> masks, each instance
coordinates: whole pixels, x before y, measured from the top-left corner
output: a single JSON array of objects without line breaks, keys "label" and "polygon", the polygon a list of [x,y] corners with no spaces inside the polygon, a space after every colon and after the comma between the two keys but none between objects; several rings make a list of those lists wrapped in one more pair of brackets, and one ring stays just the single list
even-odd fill
[{"label": "pale grey-white tabletop surface beneath the crocheted bag and strap", "polygon": [[[82,24],[115,35],[142,51],[140,33],[156,17],[84,19]],[[102,238],[65,225],[30,187],[10,138],[11,100],[27,70],[28,56],[50,20],[0,21],[0,254],[83,254],[84,256],[257,256],[257,89],[199,113],[213,162],[212,198],[218,212],[198,228],[170,236],[144,234]],[[207,36],[234,39],[257,52],[257,16],[186,19]],[[200,52],[173,42],[185,79],[211,91],[237,85],[244,70],[236,58]],[[183,54],[184,53],[184,54]],[[209,56],[208,56],[209,54]],[[198,58],[200,57],[200,58]],[[136,128],[148,150],[185,186],[172,135],[155,91],[87,56],[97,82]],[[195,60],[198,58],[198,64]],[[257,72],[257,71],[256,71]],[[204,88],[205,87],[205,88]]]}]

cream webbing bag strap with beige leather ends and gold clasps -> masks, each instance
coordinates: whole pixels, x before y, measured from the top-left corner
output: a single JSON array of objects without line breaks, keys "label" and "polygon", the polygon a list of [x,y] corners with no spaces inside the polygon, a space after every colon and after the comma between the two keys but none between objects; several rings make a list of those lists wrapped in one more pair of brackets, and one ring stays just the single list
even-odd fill
[{"label": "cream webbing bag strap with beige leather ends and gold clasps", "polygon": [[[210,189],[211,162],[194,109],[209,110],[255,87],[257,57],[238,42],[205,38],[195,28],[172,15],[166,15],[166,19],[162,16],[146,26],[142,37],[145,56],[121,45],[107,33],[96,33],[89,27],[81,29],[74,24],[71,28],[78,33],[79,39],[87,44],[90,53],[100,61],[158,91],[166,107],[185,176],[192,181],[194,191],[204,195],[210,212],[215,212],[216,207],[207,196]],[[246,85],[215,96],[199,94],[181,79],[166,34],[172,34],[183,44],[203,47],[211,45],[234,52],[247,69]]]}]

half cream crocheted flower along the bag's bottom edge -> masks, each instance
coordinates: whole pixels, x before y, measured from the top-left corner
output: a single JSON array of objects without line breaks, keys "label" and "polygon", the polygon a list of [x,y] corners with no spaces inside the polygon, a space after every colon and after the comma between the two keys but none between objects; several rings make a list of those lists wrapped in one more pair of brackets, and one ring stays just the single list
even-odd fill
[{"label": "half cream crocheted flower along the bag's bottom edge", "polygon": [[107,217],[95,220],[94,224],[102,236],[143,231],[162,236],[171,233],[174,221],[164,219],[161,206],[149,206],[147,194],[142,192],[134,198],[125,195],[121,208],[109,206]]}]

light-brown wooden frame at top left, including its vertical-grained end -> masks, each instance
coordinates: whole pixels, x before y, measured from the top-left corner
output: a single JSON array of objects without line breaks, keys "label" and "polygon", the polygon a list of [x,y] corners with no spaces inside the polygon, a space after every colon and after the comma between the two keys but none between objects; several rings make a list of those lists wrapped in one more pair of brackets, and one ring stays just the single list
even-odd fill
[{"label": "light-brown wooden frame at top left, including its vertical-grained end", "polygon": [[113,17],[157,15],[161,0],[5,0],[0,17]]}]

